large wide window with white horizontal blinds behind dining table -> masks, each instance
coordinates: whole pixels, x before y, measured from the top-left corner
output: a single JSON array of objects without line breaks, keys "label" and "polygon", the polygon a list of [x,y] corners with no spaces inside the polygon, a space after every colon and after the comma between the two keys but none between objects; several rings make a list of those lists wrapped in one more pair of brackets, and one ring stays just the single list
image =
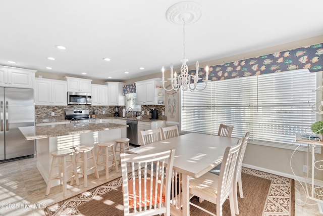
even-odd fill
[{"label": "large wide window with white horizontal blinds behind dining table", "polygon": [[291,144],[315,122],[316,73],[294,70],[210,82],[204,91],[181,92],[181,131],[218,134],[220,123],[232,136]]}]

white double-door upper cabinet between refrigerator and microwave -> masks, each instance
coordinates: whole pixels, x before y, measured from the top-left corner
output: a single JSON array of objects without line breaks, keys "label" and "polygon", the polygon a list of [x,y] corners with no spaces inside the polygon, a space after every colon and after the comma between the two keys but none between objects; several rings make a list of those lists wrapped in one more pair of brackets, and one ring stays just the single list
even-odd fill
[{"label": "white double-door upper cabinet between refrigerator and microwave", "polygon": [[35,105],[67,106],[67,82],[35,78]]}]

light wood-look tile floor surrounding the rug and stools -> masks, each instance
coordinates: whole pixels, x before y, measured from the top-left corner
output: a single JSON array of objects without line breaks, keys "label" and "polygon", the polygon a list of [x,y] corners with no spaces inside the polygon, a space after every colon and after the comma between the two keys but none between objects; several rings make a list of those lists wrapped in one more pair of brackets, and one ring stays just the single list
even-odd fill
[{"label": "light wood-look tile floor surrounding the rug and stools", "polygon": [[[105,180],[105,171],[99,171],[99,179],[94,175],[88,176],[88,187],[83,187],[83,178],[80,186],[68,185],[68,195],[63,197],[62,186],[51,188],[50,194],[45,196],[46,183],[36,168],[37,157],[0,163],[0,215],[45,215],[42,205],[49,206],[58,201],[77,195],[94,188],[109,180]],[[110,180],[121,176],[115,170],[110,172]],[[295,199],[305,200],[305,194],[295,184]],[[39,206],[37,206],[39,205]],[[308,200],[306,205],[295,205],[296,216],[319,216],[319,209],[315,202]]]}]

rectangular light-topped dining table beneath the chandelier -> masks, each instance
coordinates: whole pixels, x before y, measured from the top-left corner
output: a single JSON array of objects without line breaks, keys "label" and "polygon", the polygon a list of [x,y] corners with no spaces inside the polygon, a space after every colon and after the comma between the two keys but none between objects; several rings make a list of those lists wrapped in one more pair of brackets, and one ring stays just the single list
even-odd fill
[{"label": "rectangular light-topped dining table beneath the chandelier", "polygon": [[219,165],[225,149],[228,146],[237,145],[237,142],[238,138],[189,133],[132,148],[129,152],[150,154],[175,149],[173,170],[181,174],[182,198],[180,207],[174,207],[171,204],[171,213],[172,215],[189,215],[189,177],[199,178]]}]

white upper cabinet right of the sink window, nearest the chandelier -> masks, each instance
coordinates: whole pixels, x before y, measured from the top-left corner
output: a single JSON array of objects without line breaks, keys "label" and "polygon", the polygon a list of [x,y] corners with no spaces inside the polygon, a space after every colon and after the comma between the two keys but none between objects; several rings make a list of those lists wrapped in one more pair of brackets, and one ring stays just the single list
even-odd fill
[{"label": "white upper cabinet right of the sink window, nearest the chandelier", "polygon": [[136,82],[137,104],[140,105],[163,105],[165,104],[165,90],[161,79],[148,79]]}]

